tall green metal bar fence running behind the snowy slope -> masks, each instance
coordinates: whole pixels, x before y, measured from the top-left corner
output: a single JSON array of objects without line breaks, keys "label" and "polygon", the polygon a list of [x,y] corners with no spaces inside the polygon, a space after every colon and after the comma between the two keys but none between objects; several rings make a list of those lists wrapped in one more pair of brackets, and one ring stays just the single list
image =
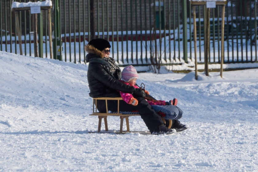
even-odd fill
[{"label": "tall green metal bar fence running behind the snowy slope", "polygon": [[[29,2],[29,0],[15,0]],[[32,1],[32,0],[31,0]],[[172,65],[194,60],[192,6],[188,0],[52,0],[54,58],[85,63],[84,45],[101,37],[111,41],[119,65]],[[0,50],[19,53],[12,0],[0,1]],[[197,6],[198,63],[204,62],[205,6]],[[59,13],[60,12],[60,13]],[[221,7],[211,10],[209,62],[220,63]],[[38,14],[40,57],[50,58],[47,12]],[[225,63],[257,62],[257,2],[228,1],[225,12]],[[35,56],[33,20],[19,11],[23,54]],[[39,37],[40,35],[38,35]],[[58,41],[58,40],[61,41]],[[40,44],[40,42],[39,42]],[[62,47],[62,49],[57,47]]]}]

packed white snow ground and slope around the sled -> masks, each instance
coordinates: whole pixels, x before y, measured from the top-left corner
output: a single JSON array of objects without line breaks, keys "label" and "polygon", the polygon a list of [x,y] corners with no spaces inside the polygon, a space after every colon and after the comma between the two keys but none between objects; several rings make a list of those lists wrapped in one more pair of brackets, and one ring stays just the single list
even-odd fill
[{"label": "packed white snow ground and slope around the sled", "polygon": [[[87,65],[0,52],[0,171],[258,171],[258,69],[205,76],[139,73],[157,99],[178,99],[190,128],[150,135],[143,120],[89,116]],[[104,124],[102,124],[104,129]]]}]

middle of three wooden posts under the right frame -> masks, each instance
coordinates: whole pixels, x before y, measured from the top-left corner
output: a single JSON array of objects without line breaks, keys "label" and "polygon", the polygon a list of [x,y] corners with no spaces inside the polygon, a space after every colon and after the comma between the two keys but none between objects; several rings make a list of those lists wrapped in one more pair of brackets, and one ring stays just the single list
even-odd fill
[{"label": "middle of three wooden posts under the right frame", "polygon": [[210,45],[210,8],[206,7],[206,37],[205,37],[205,50],[204,50],[204,63],[205,74],[209,76],[209,45]]}]

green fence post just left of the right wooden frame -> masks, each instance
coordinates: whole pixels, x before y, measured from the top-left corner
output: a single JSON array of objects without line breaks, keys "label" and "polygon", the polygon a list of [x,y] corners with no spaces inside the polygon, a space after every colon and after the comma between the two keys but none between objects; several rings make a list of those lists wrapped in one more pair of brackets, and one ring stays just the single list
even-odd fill
[{"label": "green fence post just left of the right wooden frame", "polygon": [[187,63],[187,0],[183,0],[183,54]]}]

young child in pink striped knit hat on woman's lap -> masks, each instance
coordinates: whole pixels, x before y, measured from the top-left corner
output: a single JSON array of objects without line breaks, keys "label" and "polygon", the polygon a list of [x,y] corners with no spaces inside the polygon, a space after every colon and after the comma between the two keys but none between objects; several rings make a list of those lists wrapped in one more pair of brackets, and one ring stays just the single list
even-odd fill
[{"label": "young child in pink striped knit hat on woman's lap", "polygon": [[[132,66],[126,66],[122,71],[122,81],[125,84],[134,86],[135,88],[140,88],[136,81],[138,79],[138,73],[136,69]],[[149,92],[145,90],[146,97],[145,99],[151,105],[151,107],[164,119],[180,119],[182,117],[182,110],[178,108],[177,99],[170,100],[166,102],[164,100],[156,100],[152,96],[150,96]],[[138,100],[135,99],[131,94],[120,92],[121,97],[128,104],[132,104],[136,106],[138,104]]]}]

